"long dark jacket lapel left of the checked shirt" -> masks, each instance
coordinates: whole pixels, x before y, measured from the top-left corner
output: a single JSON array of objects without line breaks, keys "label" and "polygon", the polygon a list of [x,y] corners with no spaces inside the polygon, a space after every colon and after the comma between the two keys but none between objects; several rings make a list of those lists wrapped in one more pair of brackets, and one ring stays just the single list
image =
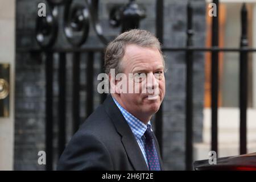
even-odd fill
[{"label": "long dark jacket lapel left of the checked shirt", "polygon": [[103,105],[118,133],[122,136],[123,146],[134,169],[137,171],[148,171],[141,148],[139,148],[137,140],[121,111],[118,109],[117,105],[115,105],[112,96],[109,95]]}]

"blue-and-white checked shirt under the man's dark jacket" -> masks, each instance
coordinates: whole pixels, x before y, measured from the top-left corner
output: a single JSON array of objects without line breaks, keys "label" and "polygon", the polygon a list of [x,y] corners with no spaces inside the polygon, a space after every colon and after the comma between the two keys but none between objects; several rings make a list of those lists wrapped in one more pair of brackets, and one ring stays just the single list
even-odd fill
[{"label": "blue-and-white checked shirt under the man's dark jacket", "polygon": [[[142,155],[147,163],[147,154],[146,154],[146,147],[145,147],[145,137],[144,133],[147,130],[147,125],[145,125],[142,121],[140,121],[138,118],[134,117],[134,115],[130,114],[127,110],[123,109],[123,107],[112,97],[115,104],[123,114],[123,117],[125,117],[128,125],[131,128],[131,131],[133,131],[133,134],[139,144],[139,148],[141,148]],[[150,121],[147,123],[148,125],[151,125]]]}]

